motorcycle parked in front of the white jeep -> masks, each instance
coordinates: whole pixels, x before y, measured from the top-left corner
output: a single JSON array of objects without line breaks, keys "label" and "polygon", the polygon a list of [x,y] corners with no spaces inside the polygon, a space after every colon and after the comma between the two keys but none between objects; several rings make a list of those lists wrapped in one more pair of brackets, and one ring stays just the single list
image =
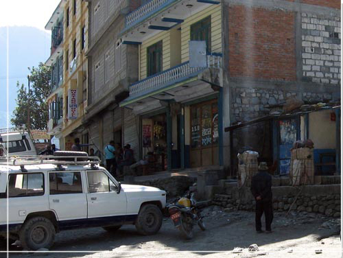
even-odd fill
[{"label": "motorcycle parked in front of the white jeep", "polygon": [[185,196],[167,206],[174,226],[180,230],[186,239],[193,238],[193,226],[198,224],[202,231],[206,230],[202,215],[197,209],[194,192],[187,191]]}]

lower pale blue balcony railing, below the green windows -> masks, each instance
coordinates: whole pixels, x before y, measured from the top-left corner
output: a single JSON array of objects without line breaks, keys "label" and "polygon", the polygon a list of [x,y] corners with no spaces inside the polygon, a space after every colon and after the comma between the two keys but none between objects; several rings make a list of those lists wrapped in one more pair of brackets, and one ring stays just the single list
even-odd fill
[{"label": "lower pale blue balcony railing, below the green windows", "polygon": [[222,54],[213,53],[207,55],[206,67],[190,67],[189,61],[183,62],[182,64],[156,73],[149,76],[139,82],[132,84],[129,87],[130,97],[137,97],[143,93],[148,93],[159,89],[161,86],[167,84],[173,84],[174,82],[182,81],[182,78],[190,78],[196,76],[198,73],[206,68],[217,68],[222,67]]}]

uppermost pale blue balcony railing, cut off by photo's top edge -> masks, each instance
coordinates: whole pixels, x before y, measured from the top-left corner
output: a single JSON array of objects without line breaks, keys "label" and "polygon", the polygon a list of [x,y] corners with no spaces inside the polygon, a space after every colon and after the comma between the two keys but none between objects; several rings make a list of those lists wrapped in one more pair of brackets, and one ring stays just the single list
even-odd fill
[{"label": "uppermost pale blue balcony railing, cut off by photo's top edge", "polygon": [[145,3],[145,5],[142,5],[126,16],[126,27],[130,27],[132,24],[143,19],[143,17],[151,15],[152,12],[174,1],[176,0],[151,0]]}]

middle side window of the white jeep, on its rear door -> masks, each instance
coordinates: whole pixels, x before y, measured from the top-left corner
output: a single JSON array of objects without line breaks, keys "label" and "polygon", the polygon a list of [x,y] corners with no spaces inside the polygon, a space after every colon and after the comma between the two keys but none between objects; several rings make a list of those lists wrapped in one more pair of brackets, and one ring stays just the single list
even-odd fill
[{"label": "middle side window of the white jeep, on its rear door", "polygon": [[49,173],[50,194],[82,193],[81,172]]}]

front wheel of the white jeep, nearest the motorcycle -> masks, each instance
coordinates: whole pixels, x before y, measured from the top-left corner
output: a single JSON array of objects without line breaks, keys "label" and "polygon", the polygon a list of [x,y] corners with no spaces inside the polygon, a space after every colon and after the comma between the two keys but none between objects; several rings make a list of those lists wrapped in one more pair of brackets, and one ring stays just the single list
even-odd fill
[{"label": "front wheel of the white jeep, nearest the motorcycle", "polygon": [[142,235],[154,235],[160,230],[162,220],[161,210],[154,204],[146,204],[141,207],[135,225]]}]

